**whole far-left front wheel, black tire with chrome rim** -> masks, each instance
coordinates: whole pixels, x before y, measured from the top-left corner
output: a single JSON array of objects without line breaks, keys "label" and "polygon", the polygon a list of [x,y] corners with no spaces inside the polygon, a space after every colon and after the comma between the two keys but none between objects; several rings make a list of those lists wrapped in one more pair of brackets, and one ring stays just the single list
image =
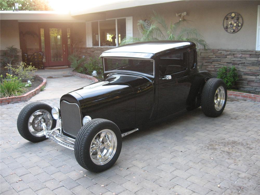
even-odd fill
[{"label": "whole far-left front wheel, black tire with chrome rim", "polygon": [[47,139],[43,134],[41,120],[44,121],[48,129],[56,127],[56,120],[52,119],[49,105],[42,102],[29,103],[18,115],[18,132],[24,139],[31,142],[40,142]]}]

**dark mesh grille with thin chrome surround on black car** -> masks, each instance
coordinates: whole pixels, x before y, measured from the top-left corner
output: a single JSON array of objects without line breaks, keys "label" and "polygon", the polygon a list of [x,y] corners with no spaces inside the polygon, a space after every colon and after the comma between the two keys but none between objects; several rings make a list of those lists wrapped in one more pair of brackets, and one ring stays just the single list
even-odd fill
[{"label": "dark mesh grille with thin chrome surround on black car", "polygon": [[65,133],[77,136],[81,128],[80,107],[76,103],[61,102],[62,129]]}]

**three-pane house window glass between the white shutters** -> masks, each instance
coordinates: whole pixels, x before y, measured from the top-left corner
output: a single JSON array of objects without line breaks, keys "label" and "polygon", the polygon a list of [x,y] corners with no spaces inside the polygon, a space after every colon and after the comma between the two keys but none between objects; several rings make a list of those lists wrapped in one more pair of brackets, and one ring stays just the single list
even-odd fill
[{"label": "three-pane house window glass between the white shutters", "polygon": [[126,37],[126,18],[91,22],[92,46],[116,47]]}]

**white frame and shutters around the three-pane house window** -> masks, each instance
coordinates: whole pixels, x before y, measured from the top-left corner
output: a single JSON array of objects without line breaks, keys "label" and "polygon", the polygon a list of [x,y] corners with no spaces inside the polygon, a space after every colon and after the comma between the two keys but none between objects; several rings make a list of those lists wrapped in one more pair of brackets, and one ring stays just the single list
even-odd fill
[{"label": "white frame and shutters around the three-pane house window", "polygon": [[[118,28],[117,28],[117,20],[118,19],[122,19],[122,18],[125,18],[126,20],[126,36],[127,36],[127,19],[128,18],[133,18],[133,17],[119,17],[119,18],[109,18],[107,20],[115,20],[115,27],[116,27],[116,46],[100,46],[100,26],[99,26],[99,22],[100,21],[106,21],[106,20],[93,20],[93,21],[89,21],[90,23],[90,35],[87,34],[87,29],[86,29],[86,40],[88,39],[88,36],[91,36],[91,46],[90,44],[88,45],[86,43],[86,47],[111,47],[111,48],[115,48],[115,47],[118,47]],[[99,34],[99,46],[93,46],[93,43],[92,43],[92,25],[91,23],[92,22],[98,22],[98,34]],[[87,22],[86,22],[87,23]],[[132,22],[132,25],[133,25],[133,22]],[[86,28],[87,28],[87,25],[86,25]],[[132,27],[132,34],[133,34],[133,27]],[[86,41],[87,42],[87,41]]]}]

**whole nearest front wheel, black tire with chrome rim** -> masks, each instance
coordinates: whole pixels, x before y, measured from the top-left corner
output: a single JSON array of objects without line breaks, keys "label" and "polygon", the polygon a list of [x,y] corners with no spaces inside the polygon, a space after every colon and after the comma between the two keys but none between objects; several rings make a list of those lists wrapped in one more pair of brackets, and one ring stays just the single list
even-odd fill
[{"label": "whole nearest front wheel, black tire with chrome rim", "polygon": [[122,148],[122,136],[118,126],[106,119],[93,119],[77,134],[74,154],[83,168],[105,171],[116,162]]}]

